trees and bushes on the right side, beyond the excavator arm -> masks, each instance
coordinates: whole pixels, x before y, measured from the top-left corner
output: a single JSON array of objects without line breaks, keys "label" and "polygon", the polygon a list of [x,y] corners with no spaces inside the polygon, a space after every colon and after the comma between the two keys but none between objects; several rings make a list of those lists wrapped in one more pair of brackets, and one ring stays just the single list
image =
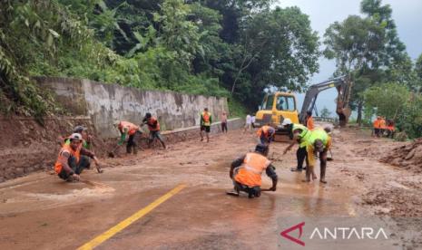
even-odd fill
[{"label": "trees and bushes on the right side, beyond the excavator arm", "polygon": [[337,62],[335,74],[353,78],[352,108],[358,122],[373,115],[396,120],[410,137],[422,136],[422,55],[413,63],[397,35],[390,5],[362,0],[363,16],[329,25],[324,55]]}]

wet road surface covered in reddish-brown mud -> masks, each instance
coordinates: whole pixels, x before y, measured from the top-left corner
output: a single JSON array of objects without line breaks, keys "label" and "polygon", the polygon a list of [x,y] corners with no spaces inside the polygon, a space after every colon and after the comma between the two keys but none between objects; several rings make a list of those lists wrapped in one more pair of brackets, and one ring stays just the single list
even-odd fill
[{"label": "wet road surface covered in reddish-brown mud", "polygon": [[[79,183],[44,172],[7,181],[0,185],[0,249],[75,249],[96,236],[102,236],[97,249],[290,249],[280,232],[294,224],[284,219],[366,217],[388,218],[391,240],[367,249],[420,249],[422,178],[378,162],[400,144],[360,130],[333,133],[328,184],[304,183],[304,172],[290,171],[296,149],[283,156],[287,144],[273,143],[278,189],[253,199],[225,195],[231,160],[256,143],[254,134],[240,130],[210,143],[191,140],[103,159],[104,173],[87,170]],[[175,187],[180,191],[129,226],[113,227]],[[270,178],[263,176],[263,187]],[[104,236],[111,228],[113,236]]]}]

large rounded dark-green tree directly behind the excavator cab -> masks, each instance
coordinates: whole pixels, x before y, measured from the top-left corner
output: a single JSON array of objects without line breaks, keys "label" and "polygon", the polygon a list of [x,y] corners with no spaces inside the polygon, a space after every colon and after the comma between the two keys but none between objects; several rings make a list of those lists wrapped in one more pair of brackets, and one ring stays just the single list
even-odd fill
[{"label": "large rounded dark-green tree directly behind the excavator cab", "polygon": [[252,107],[269,85],[302,91],[318,71],[318,35],[298,7],[263,11],[250,19],[237,46],[230,89]]}]

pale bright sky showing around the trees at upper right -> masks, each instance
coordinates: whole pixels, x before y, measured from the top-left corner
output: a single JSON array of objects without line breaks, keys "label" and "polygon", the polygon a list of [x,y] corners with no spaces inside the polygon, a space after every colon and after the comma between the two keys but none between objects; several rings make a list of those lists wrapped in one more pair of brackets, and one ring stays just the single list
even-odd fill
[{"label": "pale bright sky showing around the trees at upper right", "polygon": [[[422,53],[422,1],[421,0],[383,0],[383,5],[391,5],[393,19],[397,25],[400,40],[406,44],[407,53],[416,60]],[[279,0],[281,7],[299,6],[302,13],[308,14],[312,28],[319,33],[319,38],[325,30],[336,21],[343,21],[349,14],[360,14],[360,0]],[[319,73],[316,73],[311,82],[322,82],[335,71],[335,62],[324,58],[319,59]],[[335,111],[335,90],[321,93],[317,101],[320,111],[324,106]],[[299,107],[303,96],[299,96]]]}]

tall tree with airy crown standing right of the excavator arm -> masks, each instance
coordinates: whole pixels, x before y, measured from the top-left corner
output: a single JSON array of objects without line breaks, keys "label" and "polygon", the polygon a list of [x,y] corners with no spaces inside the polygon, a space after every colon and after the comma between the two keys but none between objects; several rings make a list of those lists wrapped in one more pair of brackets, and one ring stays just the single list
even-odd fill
[{"label": "tall tree with airy crown standing right of the excavator arm", "polygon": [[[376,82],[412,82],[407,76],[411,62],[400,42],[389,5],[380,0],[363,0],[361,12],[366,17],[348,16],[342,23],[331,24],[324,35],[329,59],[336,59],[336,74],[350,74],[354,88],[350,104],[358,110],[361,123],[365,91]],[[410,64],[409,64],[410,62]]]}]

